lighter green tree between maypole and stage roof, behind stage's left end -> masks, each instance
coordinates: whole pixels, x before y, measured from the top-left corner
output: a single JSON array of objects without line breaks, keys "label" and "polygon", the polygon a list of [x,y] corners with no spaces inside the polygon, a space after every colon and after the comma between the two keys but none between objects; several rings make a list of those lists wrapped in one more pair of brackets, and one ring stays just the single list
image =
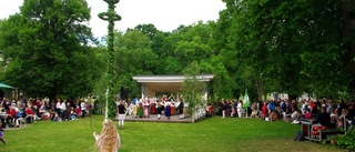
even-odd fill
[{"label": "lighter green tree between maypole and stage roof, behind stage's left end", "polygon": [[[151,49],[151,41],[146,34],[139,30],[129,30],[125,33],[115,33],[114,61],[116,72],[116,84],[121,95],[129,92],[132,95],[140,93],[138,84],[132,80],[136,74],[152,74],[156,64],[156,54]],[[128,95],[124,95],[126,99]]]}]

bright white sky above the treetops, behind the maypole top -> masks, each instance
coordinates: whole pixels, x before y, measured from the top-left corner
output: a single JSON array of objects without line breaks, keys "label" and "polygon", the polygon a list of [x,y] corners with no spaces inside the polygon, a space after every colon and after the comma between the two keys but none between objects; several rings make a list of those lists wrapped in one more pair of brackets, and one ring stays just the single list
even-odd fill
[{"label": "bright white sky above the treetops, behind the maypole top", "polygon": [[[98,13],[108,10],[103,0],[87,0],[91,8],[90,27],[95,37],[106,36],[108,22],[99,19]],[[0,19],[19,12],[23,0],[0,0]],[[115,29],[124,31],[138,24],[152,23],[158,30],[172,31],[180,24],[190,26],[197,21],[219,19],[225,9],[222,0],[121,0],[115,11],[122,17]]]}]

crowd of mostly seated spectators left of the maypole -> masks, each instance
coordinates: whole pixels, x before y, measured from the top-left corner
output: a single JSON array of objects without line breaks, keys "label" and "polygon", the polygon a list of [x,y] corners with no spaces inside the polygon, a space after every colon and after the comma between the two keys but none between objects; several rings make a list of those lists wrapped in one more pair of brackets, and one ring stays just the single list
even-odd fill
[{"label": "crowd of mostly seated spectators left of the maypole", "polygon": [[90,109],[94,104],[85,99],[49,101],[44,99],[24,99],[10,101],[9,99],[0,99],[0,119],[1,128],[20,126],[20,121],[27,123],[38,120],[51,120],[62,122],[85,118],[90,114]]}]

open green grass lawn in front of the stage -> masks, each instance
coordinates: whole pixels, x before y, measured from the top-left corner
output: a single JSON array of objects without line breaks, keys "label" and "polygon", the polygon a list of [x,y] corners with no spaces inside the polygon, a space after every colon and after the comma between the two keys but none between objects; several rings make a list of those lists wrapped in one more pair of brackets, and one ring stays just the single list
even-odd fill
[{"label": "open green grass lawn in front of the stage", "polygon": [[[93,152],[92,132],[103,115],[69,122],[39,121],[6,130],[0,152]],[[116,123],[116,122],[115,122]],[[260,119],[210,118],[197,123],[125,122],[121,152],[339,152],[328,144],[293,139],[301,125]]]}]

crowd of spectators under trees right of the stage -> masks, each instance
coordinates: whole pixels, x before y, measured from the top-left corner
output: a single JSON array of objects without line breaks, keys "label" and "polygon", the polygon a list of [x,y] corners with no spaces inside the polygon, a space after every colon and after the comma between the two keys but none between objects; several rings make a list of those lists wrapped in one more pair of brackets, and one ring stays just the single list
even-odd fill
[{"label": "crowd of spectators under trees right of the stage", "polygon": [[346,130],[354,121],[355,109],[354,100],[338,100],[334,102],[331,99],[321,100],[304,99],[298,103],[296,100],[287,99],[266,100],[263,102],[253,102],[243,109],[241,100],[221,99],[217,104],[217,115],[226,116],[251,116],[261,118],[265,121],[283,120],[285,122],[300,123],[302,120],[308,120],[322,125],[323,129],[344,129]]}]

